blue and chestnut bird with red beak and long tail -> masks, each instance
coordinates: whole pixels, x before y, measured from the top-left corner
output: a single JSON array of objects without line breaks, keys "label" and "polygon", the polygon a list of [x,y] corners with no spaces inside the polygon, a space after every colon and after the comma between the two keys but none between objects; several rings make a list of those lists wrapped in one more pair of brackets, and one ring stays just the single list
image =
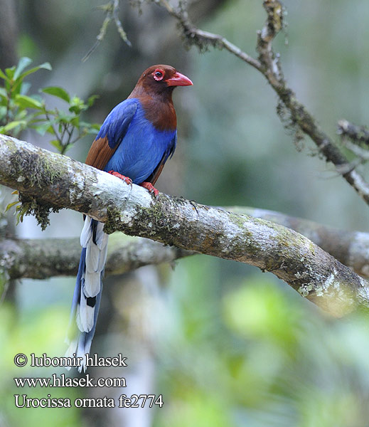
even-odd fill
[{"label": "blue and chestnut bird with red beak and long tail", "polygon": [[[131,95],[109,113],[100,128],[86,163],[139,184],[157,196],[154,187],[164,164],[173,155],[177,120],[172,93],[176,86],[193,83],[170,65],[153,65],[142,73]],[[73,295],[66,356],[90,352],[99,312],[102,276],[107,257],[104,224],[85,217],[80,236],[82,254]],[[77,328],[74,325],[77,325]]]}]

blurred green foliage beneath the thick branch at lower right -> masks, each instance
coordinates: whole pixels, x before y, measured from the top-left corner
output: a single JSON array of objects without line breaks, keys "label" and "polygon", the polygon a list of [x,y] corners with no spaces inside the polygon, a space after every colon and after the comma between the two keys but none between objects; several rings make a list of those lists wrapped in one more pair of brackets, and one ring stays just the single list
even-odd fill
[{"label": "blurred green foliage beneath the thick branch at lower right", "polygon": [[154,426],[368,426],[368,315],[334,320],[270,274],[222,283],[217,264],[171,278]]}]

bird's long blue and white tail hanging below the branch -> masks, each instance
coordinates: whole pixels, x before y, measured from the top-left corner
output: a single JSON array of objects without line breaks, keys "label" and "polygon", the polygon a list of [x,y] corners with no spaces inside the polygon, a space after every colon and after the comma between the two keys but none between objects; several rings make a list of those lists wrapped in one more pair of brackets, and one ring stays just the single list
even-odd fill
[{"label": "bird's long blue and white tail hanging below the branch", "polygon": [[83,357],[79,371],[86,370],[85,356],[90,353],[99,314],[108,238],[103,228],[103,223],[86,216],[80,237],[82,253],[65,339],[69,344],[65,356]]}]

